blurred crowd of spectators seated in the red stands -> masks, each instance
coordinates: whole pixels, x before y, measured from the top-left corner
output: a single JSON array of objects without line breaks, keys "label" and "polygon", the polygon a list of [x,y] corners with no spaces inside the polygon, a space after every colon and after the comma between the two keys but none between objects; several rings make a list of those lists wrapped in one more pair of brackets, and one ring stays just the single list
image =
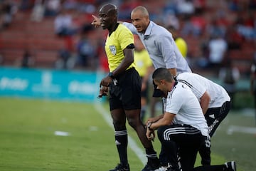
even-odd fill
[{"label": "blurred crowd of spectators seated in the red stands", "polygon": [[[227,66],[230,51],[256,41],[255,0],[0,0],[1,29],[18,11],[31,11],[31,21],[54,19],[55,35],[66,41],[55,68],[107,71],[104,48],[106,33],[93,28],[92,14],[102,4],[119,8],[119,20],[129,21],[135,6],[145,6],[152,21],[173,26],[188,43],[186,59],[191,68]],[[193,45],[193,46],[191,46]]]}]

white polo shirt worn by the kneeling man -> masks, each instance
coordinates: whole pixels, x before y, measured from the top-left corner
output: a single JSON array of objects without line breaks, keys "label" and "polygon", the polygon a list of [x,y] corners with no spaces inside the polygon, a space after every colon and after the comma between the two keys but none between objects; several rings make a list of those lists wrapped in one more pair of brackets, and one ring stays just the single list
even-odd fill
[{"label": "white polo shirt worn by the kneeling man", "polygon": [[191,88],[185,83],[177,83],[163,99],[164,111],[176,114],[174,124],[191,125],[201,131],[202,135],[208,135],[208,125],[203,115],[201,105],[193,94]]}]

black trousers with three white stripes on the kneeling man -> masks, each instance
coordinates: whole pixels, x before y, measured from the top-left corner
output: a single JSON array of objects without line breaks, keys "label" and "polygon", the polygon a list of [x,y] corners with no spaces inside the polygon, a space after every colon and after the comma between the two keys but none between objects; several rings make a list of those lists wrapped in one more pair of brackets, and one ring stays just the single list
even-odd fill
[{"label": "black trousers with three white stripes on the kneeling man", "polygon": [[178,156],[183,171],[193,170],[199,147],[205,142],[206,137],[201,131],[191,125],[169,125],[157,130],[161,142],[159,159],[162,165],[169,162],[171,167],[178,170]]}]

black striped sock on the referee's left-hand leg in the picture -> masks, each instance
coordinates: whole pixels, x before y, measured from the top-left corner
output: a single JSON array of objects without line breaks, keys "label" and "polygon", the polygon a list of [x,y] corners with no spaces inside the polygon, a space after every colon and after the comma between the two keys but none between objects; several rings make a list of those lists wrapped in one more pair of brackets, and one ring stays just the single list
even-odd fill
[{"label": "black striped sock on the referee's left-hand leg in the picture", "polygon": [[114,131],[115,137],[115,144],[117,145],[117,151],[119,154],[120,163],[122,165],[128,164],[127,159],[127,144],[128,144],[128,137],[127,137],[127,130],[116,130]]}]

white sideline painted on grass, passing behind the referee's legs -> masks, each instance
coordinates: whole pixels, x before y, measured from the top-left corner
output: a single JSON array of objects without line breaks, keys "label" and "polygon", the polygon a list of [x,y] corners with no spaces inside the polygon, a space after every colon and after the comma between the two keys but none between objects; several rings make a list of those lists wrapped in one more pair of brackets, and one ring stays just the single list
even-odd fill
[{"label": "white sideline painted on grass, passing behind the referee's legs", "polygon": [[[110,113],[103,108],[100,103],[95,102],[95,109],[102,115],[108,125],[114,130],[112,124],[112,118],[110,117]],[[136,142],[128,135],[128,146],[134,151],[139,160],[146,165],[146,154],[142,151],[142,149],[136,144]]]}]

